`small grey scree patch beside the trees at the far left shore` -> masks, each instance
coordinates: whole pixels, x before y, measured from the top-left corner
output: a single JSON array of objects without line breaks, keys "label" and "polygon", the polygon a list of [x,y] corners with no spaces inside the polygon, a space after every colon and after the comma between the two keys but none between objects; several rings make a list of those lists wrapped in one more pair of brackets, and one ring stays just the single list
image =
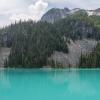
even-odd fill
[{"label": "small grey scree patch beside the trees at the far left shore", "polygon": [[10,54],[10,48],[0,47],[0,67],[4,66],[5,60]]}]

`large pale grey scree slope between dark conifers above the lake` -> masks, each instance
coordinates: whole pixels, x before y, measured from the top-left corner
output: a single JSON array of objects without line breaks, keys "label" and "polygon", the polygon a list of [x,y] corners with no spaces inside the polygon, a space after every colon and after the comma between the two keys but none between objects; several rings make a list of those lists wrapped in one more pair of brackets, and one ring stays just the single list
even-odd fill
[{"label": "large pale grey scree slope between dark conifers above the lake", "polygon": [[[79,58],[81,54],[87,54],[92,52],[94,47],[96,47],[97,41],[95,40],[77,40],[68,45],[69,53],[65,54],[62,52],[55,51],[54,54],[49,58],[55,62],[55,64],[60,64],[63,67],[77,67],[79,63]],[[55,65],[56,66],[56,65]]]}]

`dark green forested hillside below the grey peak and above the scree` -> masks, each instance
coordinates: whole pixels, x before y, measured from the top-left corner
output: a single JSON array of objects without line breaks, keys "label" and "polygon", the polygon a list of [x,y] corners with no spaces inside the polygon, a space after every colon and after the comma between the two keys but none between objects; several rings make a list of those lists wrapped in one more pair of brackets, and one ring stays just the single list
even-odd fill
[{"label": "dark green forested hillside below the grey peak and above the scree", "polygon": [[[5,67],[41,68],[55,51],[68,53],[70,40],[100,39],[99,17],[79,11],[55,23],[19,22],[0,30],[0,44],[11,47]],[[54,63],[54,61],[52,61]],[[52,64],[51,64],[52,65]]]}]

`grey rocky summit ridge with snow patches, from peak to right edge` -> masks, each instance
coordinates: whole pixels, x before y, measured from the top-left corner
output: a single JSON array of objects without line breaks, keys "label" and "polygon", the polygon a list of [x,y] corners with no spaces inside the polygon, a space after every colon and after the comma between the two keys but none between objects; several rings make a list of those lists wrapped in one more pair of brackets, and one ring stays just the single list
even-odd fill
[{"label": "grey rocky summit ridge with snow patches, from peak to right edge", "polygon": [[92,15],[100,16],[100,8],[95,9],[95,10],[85,10],[81,8],[74,8],[72,10],[69,8],[64,8],[64,9],[52,8],[43,15],[43,17],[41,18],[41,21],[54,23],[55,21],[58,21],[59,19],[65,18],[68,15],[75,14],[77,12],[85,12],[89,16],[92,16]]}]

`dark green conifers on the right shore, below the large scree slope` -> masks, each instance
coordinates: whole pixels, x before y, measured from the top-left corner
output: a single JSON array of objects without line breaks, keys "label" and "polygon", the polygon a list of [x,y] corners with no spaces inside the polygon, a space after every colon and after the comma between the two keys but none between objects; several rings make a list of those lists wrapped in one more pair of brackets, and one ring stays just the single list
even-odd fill
[{"label": "dark green conifers on the right shore, below the large scree slope", "polygon": [[100,43],[90,54],[81,55],[79,68],[100,68]]}]

